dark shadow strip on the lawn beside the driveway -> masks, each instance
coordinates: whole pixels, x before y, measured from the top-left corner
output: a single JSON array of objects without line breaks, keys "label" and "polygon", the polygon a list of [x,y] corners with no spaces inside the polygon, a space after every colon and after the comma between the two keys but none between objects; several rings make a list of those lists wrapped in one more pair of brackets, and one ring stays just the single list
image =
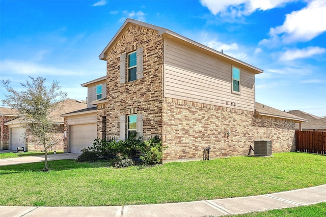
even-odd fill
[{"label": "dark shadow strip on the lawn beside the driveway", "polygon": [[[9,173],[19,173],[19,172],[40,172],[44,170],[44,162],[36,163],[27,163],[27,164],[17,164],[17,165],[8,165],[0,167],[0,174],[9,174]],[[96,168],[96,167],[105,167],[108,162],[77,162],[76,160],[57,160],[57,161],[48,161],[49,170],[53,171],[63,171],[71,169],[82,169],[82,168]],[[5,172],[10,171],[10,172]]]}]

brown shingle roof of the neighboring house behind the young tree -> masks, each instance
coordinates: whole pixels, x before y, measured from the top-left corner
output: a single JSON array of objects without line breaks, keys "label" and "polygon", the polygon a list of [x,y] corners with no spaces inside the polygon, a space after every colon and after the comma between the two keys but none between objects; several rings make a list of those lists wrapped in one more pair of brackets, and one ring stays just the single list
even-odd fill
[{"label": "brown shingle roof of the neighboring house behind the young tree", "polygon": [[[80,109],[85,109],[87,108],[87,104],[86,101],[66,99],[59,102],[59,108],[60,109],[57,109],[49,114],[49,116],[52,117],[51,121],[53,123],[63,123],[64,118],[61,116],[61,114],[80,110]],[[14,125],[21,122],[22,122],[22,117],[8,121],[5,123],[5,125]]]}]

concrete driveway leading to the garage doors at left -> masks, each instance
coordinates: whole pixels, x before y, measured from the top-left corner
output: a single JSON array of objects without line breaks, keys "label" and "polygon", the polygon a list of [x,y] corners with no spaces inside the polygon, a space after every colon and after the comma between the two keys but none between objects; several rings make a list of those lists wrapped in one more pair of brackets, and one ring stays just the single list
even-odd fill
[{"label": "concrete driveway leading to the garage doors at left", "polygon": [[[58,153],[58,154],[48,154],[47,160],[64,160],[64,159],[77,159],[80,154],[78,153]],[[45,161],[44,156],[27,156],[19,158],[6,158],[0,159],[0,166],[15,165],[15,164],[26,164],[33,162]]]}]

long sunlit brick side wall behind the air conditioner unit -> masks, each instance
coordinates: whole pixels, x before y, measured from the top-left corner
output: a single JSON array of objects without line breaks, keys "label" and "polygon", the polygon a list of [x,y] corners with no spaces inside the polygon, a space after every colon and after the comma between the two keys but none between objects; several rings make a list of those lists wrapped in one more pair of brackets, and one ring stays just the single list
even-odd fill
[{"label": "long sunlit brick side wall behind the air conditioner unit", "polygon": [[251,111],[165,98],[163,126],[164,162],[202,159],[205,147],[211,158],[244,156],[258,139],[272,141],[273,152],[294,150],[294,121]]}]

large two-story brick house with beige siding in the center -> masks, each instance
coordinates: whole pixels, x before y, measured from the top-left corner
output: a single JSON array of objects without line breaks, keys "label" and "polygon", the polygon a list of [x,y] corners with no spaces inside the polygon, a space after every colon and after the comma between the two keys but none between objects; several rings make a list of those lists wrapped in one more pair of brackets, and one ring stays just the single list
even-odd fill
[{"label": "large two-story brick house with beige siding in the center", "polygon": [[[159,135],[168,146],[164,162],[202,159],[205,147],[211,158],[243,156],[258,139],[271,140],[274,152],[294,150],[295,122],[305,119],[255,102],[261,69],[132,19],[99,58],[107,63],[106,96],[90,103],[97,105],[92,123],[97,121],[98,138]],[[71,142],[70,128],[90,115],[75,114],[63,115],[68,152],[82,148]]]}]

